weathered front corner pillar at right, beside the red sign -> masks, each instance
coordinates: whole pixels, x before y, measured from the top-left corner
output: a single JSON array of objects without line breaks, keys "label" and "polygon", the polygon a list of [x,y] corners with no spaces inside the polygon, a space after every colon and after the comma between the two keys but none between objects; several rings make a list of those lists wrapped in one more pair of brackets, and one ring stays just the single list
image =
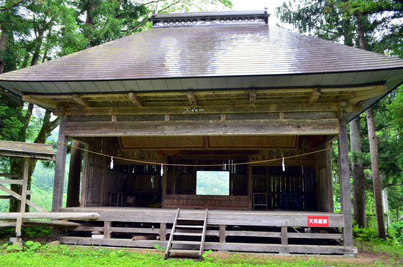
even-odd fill
[{"label": "weathered front corner pillar at right, beside the red sign", "polygon": [[340,202],[344,220],[343,245],[353,247],[353,224],[351,218],[351,191],[350,191],[350,164],[349,147],[347,140],[347,119],[346,111],[341,110],[339,114],[339,179],[340,179]]}]

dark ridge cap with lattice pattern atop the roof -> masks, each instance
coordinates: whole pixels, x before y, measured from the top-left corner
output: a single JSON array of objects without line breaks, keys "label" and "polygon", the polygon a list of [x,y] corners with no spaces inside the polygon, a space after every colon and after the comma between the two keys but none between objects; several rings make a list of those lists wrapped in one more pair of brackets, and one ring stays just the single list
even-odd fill
[{"label": "dark ridge cap with lattice pattern atop the roof", "polygon": [[150,21],[153,28],[182,26],[219,26],[238,24],[268,24],[267,7],[263,11],[223,11],[157,14]]}]

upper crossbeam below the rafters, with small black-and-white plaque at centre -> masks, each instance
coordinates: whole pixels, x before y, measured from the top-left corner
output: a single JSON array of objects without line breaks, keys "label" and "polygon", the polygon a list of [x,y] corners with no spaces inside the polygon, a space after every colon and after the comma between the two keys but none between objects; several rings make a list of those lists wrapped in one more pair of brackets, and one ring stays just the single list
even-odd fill
[{"label": "upper crossbeam below the rafters, with small black-and-white plaque at centre", "polygon": [[[296,104],[264,104],[264,105],[212,105],[205,106],[203,114],[221,113],[267,113],[267,112],[312,112],[339,111],[339,103],[296,103]],[[93,107],[67,108],[69,116],[89,115],[146,115],[146,114],[190,114],[183,106],[162,107]]]}]

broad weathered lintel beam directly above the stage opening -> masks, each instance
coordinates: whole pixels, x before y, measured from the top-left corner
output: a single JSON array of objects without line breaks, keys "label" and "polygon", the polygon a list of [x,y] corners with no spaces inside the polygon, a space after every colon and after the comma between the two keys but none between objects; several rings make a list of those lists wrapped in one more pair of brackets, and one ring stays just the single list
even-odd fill
[{"label": "broad weathered lintel beam directly above the stage opening", "polygon": [[[135,127],[134,127],[135,125]],[[209,135],[334,135],[338,119],[68,122],[72,137],[209,136]],[[61,143],[61,142],[59,142]],[[57,165],[56,165],[57,166]]]}]

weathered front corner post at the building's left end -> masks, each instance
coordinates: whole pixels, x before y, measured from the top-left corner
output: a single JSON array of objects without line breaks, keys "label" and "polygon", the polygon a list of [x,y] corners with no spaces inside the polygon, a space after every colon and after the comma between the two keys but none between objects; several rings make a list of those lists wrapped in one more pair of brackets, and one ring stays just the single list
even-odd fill
[{"label": "weathered front corner post at the building's left end", "polygon": [[[67,122],[67,116],[60,116],[59,125],[59,138],[57,140],[57,154],[56,154],[56,166],[54,170],[54,183],[53,183],[53,201],[52,212],[58,212],[61,208],[63,201],[63,186],[64,186],[64,171],[66,166],[66,154],[67,154],[67,137],[64,135],[64,130]],[[50,228],[50,236],[52,238],[57,237],[57,227]]]}]

